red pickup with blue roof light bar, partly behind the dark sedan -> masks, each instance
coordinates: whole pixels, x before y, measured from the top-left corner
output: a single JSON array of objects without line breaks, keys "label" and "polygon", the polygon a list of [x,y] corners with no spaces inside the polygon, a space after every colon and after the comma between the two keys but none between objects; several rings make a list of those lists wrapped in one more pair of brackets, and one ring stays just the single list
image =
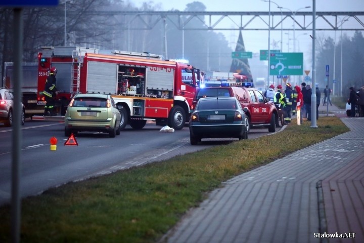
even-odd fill
[{"label": "red pickup with blue roof light bar, partly behind the dark sedan", "polygon": [[200,88],[195,94],[191,109],[194,109],[197,101],[203,97],[236,97],[243,109],[247,108],[245,114],[249,119],[248,131],[254,127],[265,127],[271,133],[276,132],[276,117],[278,117],[276,106],[259,90],[247,88],[250,86],[251,83],[222,82],[220,87]]}]

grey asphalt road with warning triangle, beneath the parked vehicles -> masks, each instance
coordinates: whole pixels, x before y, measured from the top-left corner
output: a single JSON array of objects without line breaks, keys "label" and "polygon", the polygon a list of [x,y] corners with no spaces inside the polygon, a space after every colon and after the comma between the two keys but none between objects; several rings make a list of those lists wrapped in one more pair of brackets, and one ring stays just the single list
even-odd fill
[{"label": "grey asphalt road with warning triangle, beneath the parked vehicles", "polygon": [[[109,138],[103,133],[79,133],[78,146],[64,146],[64,125],[55,121],[27,120],[22,127],[21,196],[26,197],[91,176],[164,160],[237,139],[203,139],[190,144],[188,127],[174,133],[161,133],[161,127],[148,122],[142,130],[129,126],[120,136]],[[0,205],[11,198],[12,129],[0,124]],[[266,135],[267,129],[252,129],[249,139]],[[57,149],[50,149],[50,139],[56,137]]]}]

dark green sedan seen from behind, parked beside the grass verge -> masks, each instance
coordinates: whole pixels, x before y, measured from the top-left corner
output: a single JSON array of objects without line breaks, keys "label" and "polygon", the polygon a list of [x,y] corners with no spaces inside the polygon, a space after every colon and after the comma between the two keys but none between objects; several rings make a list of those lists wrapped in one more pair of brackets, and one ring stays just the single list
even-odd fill
[{"label": "dark green sedan seen from behind, parked beside the grass verge", "polygon": [[190,142],[202,138],[247,139],[247,118],[235,97],[201,98],[190,118]]}]

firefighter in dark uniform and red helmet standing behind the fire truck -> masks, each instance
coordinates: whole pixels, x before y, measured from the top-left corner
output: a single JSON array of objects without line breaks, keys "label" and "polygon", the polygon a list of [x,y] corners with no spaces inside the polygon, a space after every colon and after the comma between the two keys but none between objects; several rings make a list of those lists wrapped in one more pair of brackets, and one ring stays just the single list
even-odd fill
[{"label": "firefighter in dark uniform and red helmet standing behind the fire truck", "polygon": [[55,105],[56,95],[58,91],[56,88],[56,75],[57,68],[51,67],[50,75],[45,81],[43,95],[45,96],[45,101],[47,102],[44,107],[44,115],[54,115],[53,109]]}]

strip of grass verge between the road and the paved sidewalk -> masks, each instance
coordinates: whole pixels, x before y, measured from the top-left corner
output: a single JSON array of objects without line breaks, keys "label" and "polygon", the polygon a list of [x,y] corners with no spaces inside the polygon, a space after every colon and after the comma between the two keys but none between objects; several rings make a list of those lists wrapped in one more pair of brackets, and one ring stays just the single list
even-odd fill
[{"label": "strip of grass verge between the road and the paved sidewalk", "polygon": [[[155,242],[221,182],[348,131],[337,117],[320,117],[317,129],[295,124],[23,199],[21,241]],[[1,207],[0,242],[11,241],[10,222]]]}]

